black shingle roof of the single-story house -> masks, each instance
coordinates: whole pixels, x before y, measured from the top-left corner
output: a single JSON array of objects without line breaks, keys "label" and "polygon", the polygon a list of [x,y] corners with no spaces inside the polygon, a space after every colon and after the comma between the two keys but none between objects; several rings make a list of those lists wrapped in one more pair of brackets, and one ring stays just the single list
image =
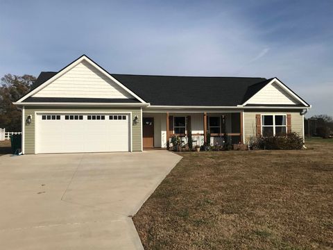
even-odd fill
[{"label": "black shingle roof of the single-story house", "polygon": [[[58,72],[41,72],[31,90],[55,76]],[[148,76],[111,74],[126,88],[154,106],[237,106],[264,88],[273,78],[210,77],[210,76]],[[26,101],[77,102],[96,99],[36,98]],[[110,100],[110,101],[107,101]],[[102,102],[119,102],[102,99]],[[128,101],[127,101],[128,102]],[[131,99],[130,102],[137,102]]]}]

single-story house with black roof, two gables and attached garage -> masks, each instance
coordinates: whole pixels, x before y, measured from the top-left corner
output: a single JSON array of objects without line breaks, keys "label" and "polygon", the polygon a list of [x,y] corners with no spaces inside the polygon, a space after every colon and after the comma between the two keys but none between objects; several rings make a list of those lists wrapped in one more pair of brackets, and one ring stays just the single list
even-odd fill
[{"label": "single-story house with black roof, two gables and attached garage", "polygon": [[247,144],[263,133],[304,138],[311,106],[278,78],[110,74],[83,55],[42,72],[22,108],[23,153],[167,148],[173,135],[194,145]]}]

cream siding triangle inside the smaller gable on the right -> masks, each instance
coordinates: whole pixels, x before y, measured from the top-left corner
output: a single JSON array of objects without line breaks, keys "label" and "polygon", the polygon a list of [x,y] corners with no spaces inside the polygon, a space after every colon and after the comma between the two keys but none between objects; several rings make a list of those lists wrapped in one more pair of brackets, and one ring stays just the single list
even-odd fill
[{"label": "cream siding triangle inside the smaller gable on the right", "polygon": [[273,83],[267,85],[262,90],[257,92],[248,104],[298,104],[290,94],[288,94],[280,85]]}]

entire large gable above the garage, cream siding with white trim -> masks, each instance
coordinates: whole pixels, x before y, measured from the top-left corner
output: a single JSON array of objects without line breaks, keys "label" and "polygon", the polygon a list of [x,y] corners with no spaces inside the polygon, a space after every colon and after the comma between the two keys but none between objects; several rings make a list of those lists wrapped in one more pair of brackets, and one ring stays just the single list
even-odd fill
[{"label": "entire large gable above the garage, cream siding with white trim", "polygon": [[19,99],[18,102],[24,101],[28,97],[53,97],[138,99],[140,102],[146,103],[87,56],[81,56],[56,74],[53,72],[40,74],[38,81],[44,81],[44,83],[33,85],[33,90]]}]

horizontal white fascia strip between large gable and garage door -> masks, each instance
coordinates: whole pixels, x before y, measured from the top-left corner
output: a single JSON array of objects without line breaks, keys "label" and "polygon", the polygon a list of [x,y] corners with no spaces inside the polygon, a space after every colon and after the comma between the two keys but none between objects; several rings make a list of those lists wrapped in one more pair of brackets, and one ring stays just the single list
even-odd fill
[{"label": "horizontal white fascia strip between large gable and garage door", "polygon": [[145,107],[149,106],[149,103],[66,103],[66,102],[59,102],[59,103],[53,103],[53,102],[13,102],[14,105],[24,105],[24,106],[110,106],[110,107]]}]

